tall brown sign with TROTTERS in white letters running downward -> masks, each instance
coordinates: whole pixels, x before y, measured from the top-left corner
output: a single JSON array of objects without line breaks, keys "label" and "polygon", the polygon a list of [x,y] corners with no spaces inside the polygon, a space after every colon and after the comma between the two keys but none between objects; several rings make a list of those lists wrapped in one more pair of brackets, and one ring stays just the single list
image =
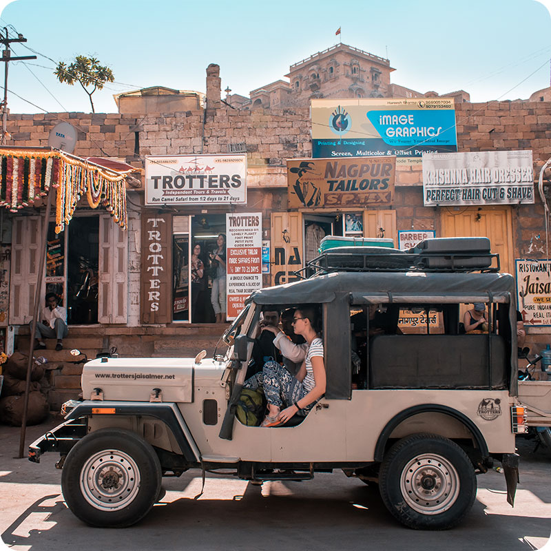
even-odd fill
[{"label": "tall brown sign with TROTTERS in white letters running downward", "polygon": [[141,318],[143,323],[171,322],[170,214],[155,210],[142,213]]}]

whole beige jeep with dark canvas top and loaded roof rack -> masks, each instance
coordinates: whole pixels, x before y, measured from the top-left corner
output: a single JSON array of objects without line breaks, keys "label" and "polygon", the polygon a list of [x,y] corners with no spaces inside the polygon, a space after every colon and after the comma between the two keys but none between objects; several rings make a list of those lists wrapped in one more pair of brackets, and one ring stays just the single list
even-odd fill
[{"label": "whole beige jeep with dark canvas top and loaded roof rack", "polygon": [[[342,469],[378,483],[405,526],[444,529],[470,510],[476,476],[501,461],[512,505],[514,436],[526,428],[514,280],[489,246],[471,255],[467,238],[429,241],[412,253],[324,251],[310,278],[253,293],[214,359],[88,362],[83,402],[31,444],[30,459],[60,453],[67,506],[94,526],[139,521],[161,477],[191,468],[251,481]],[[471,302],[487,305],[486,332],[461,334]],[[243,424],[236,409],[262,310],[304,304],[322,314],[324,397],[283,426]]]}]

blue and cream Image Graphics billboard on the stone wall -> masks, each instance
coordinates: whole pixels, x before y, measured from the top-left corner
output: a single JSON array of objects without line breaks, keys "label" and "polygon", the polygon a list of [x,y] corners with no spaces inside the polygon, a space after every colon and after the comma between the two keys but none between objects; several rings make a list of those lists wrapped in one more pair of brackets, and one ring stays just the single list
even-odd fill
[{"label": "blue and cream Image Graphics billboard on the stone wall", "polygon": [[457,151],[453,98],[313,99],[312,156],[398,157]]}]

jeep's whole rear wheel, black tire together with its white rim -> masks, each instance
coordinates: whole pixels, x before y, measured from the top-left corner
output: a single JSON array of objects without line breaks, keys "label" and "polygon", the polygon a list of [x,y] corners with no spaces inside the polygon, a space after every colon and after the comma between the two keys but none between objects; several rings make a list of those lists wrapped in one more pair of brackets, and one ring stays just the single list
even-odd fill
[{"label": "jeep's whole rear wheel, black tire together with its white rim", "polygon": [[455,442],[417,434],[388,450],[379,488],[386,508],[408,528],[447,530],[472,507],[477,478],[470,459]]}]

